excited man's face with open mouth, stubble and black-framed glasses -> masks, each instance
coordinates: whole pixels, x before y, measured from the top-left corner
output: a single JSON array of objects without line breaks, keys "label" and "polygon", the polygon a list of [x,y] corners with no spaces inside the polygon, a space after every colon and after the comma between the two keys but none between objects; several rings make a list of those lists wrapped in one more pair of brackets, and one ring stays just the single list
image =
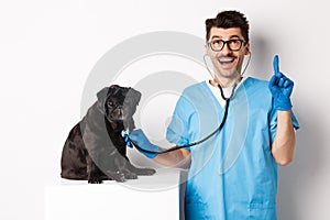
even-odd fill
[{"label": "excited man's face with open mouth, stubble and black-framed glasses", "polygon": [[[213,41],[213,46],[217,46],[217,40],[243,40],[241,30],[239,28],[219,29],[211,28],[209,41]],[[222,44],[222,42],[220,42]],[[240,44],[240,42],[239,42]],[[242,69],[244,55],[249,54],[249,44],[241,43],[242,46],[238,51],[229,48],[228,44],[219,52],[215,52],[209,44],[206,45],[207,54],[210,56],[213,64],[216,76],[220,79],[232,80],[235,79]],[[232,46],[234,47],[234,46]]]}]

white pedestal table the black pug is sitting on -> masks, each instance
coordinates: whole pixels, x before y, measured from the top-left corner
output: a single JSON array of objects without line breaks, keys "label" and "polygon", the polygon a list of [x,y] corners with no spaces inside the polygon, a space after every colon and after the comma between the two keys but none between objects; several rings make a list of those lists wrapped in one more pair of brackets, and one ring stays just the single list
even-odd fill
[{"label": "white pedestal table the black pug is sitting on", "polygon": [[125,183],[63,179],[45,188],[45,220],[179,219],[179,169],[157,169]]}]

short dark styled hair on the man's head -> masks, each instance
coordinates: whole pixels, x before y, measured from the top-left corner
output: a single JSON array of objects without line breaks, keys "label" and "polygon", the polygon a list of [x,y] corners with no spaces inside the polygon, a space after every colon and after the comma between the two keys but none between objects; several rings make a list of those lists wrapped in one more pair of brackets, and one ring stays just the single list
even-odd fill
[{"label": "short dark styled hair on the man's head", "polygon": [[213,19],[207,19],[206,24],[206,40],[210,37],[211,28],[240,28],[242,35],[246,42],[249,42],[249,22],[244,14],[238,11],[222,11],[217,14]]}]

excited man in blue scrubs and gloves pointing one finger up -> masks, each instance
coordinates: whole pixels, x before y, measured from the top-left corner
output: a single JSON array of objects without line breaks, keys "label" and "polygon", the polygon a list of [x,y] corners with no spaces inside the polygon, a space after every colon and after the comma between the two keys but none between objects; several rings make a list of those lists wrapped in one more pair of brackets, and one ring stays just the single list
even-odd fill
[{"label": "excited man in blue scrubs and gloves pointing one finger up", "polygon": [[[277,56],[270,81],[242,77],[242,61],[251,56],[244,14],[220,12],[206,21],[206,52],[215,77],[184,90],[167,140],[184,145],[213,132],[226,106],[218,85],[229,97],[237,84],[224,127],[201,144],[144,154],[167,166],[189,160],[187,220],[276,220],[277,165],[293,160],[295,129],[299,128],[292,111],[294,82],[279,72]],[[160,150],[142,130],[131,132],[130,139],[146,150]]]}]

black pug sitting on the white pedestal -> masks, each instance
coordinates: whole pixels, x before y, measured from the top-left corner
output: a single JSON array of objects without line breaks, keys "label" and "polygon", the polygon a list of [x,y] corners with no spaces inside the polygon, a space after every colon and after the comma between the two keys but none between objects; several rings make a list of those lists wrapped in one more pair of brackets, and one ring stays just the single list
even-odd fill
[{"label": "black pug sitting on the white pedestal", "polygon": [[138,168],[127,157],[121,135],[135,125],[133,114],[141,92],[113,85],[97,94],[98,100],[68,134],[62,152],[62,178],[85,179],[90,184],[103,180],[124,182],[138,175],[153,175],[155,169]]}]

